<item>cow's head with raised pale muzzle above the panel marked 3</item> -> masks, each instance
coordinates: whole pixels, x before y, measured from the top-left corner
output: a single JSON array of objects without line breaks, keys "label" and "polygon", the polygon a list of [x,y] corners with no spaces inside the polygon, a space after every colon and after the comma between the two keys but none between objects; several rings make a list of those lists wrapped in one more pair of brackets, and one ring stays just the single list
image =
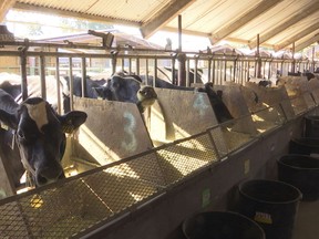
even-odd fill
[{"label": "cow's head with raised pale muzzle above the panel marked 3", "polygon": [[152,86],[142,86],[141,82],[142,80],[136,80],[136,75],[115,74],[107,80],[106,84],[94,90],[100,98],[134,103],[143,113],[146,107],[154,104],[157,94]]}]

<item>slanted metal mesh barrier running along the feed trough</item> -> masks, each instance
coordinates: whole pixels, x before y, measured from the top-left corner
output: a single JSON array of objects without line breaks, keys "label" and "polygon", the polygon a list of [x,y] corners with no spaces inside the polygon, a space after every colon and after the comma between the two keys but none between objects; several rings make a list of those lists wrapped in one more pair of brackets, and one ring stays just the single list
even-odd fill
[{"label": "slanted metal mesh barrier running along the feed trough", "polygon": [[[313,110],[319,103],[318,89],[300,90],[294,98],[256,111],[254,114],[265,121],[254,121],[255,131],[243,129],[240,125],[251,121],[251,115],[244,115],[187,138],[4,198],[0,200],[1,237],[81,238],[130,217],[177,185],[227,160],[236,150],[257,144],[267,133]],[[287,112],[296,107],[302,112],[298,110],[289,118]]]}]

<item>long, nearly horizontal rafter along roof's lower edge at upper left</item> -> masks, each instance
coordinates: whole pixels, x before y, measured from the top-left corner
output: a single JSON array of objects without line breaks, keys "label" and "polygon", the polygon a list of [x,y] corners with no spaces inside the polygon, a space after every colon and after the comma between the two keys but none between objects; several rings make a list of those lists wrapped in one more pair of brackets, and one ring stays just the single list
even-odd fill
[{"label": "long, nearly horizontal rafter along roof's lower edge at upper left", "polygon": [[21,3],[21,2],[16,2],[13,4],[13,8],[17,10],[41,12],[41,13],[55,14],[55,15],[68,17],[68,18],[76,18],[76,19],[96,21],[96,22],[126,24],[126,25],[132,25],[132,27],[137,27],[137,28],[141,27],[138,22],[134,22],[134,21],[125,21],[121,19],[92,15],[88,13],[72,12],[72,11],[45,8],[45,7],[40,7],[40,6],[31,6],[31,4]]}]

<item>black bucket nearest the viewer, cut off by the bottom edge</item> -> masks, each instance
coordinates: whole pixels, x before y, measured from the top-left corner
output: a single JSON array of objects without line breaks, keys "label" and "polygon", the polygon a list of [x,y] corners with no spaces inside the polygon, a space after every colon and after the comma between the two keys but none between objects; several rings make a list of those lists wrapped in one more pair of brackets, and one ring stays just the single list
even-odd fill
[{"label": "black bucket nearest the viewer, cut off by the bottom edge", "polygon": [[187,239],[266,239],[258,224],[231,211],[206,211],[183,221]]}]

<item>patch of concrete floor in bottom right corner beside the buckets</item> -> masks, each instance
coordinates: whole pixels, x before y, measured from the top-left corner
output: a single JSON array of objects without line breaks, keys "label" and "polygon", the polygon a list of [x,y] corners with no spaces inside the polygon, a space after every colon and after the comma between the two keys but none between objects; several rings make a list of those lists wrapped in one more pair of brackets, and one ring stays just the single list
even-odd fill
[{"label": "patch of concrete floor in bottom right corner beside the buckets", "polygon": [[292,239],[319,238],[319,200],[301,201],[294,228]]}]

